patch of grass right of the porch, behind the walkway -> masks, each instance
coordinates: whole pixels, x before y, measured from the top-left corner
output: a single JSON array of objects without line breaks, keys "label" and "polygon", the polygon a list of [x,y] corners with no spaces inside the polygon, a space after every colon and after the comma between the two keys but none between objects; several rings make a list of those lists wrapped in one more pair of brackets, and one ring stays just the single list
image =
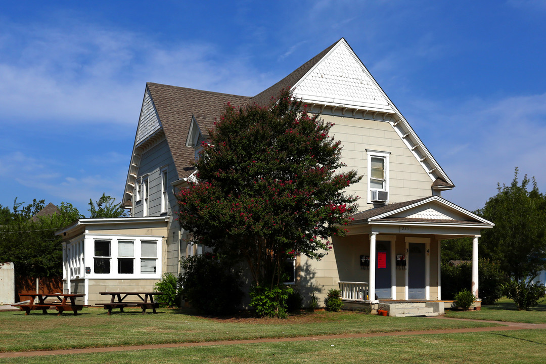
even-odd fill
[{"label": "patch of grass right of the porch, behind the walkway", "polygon": [[446,311],[446,317],[546,324],[546,301],[539,303],[535,308],[531,308],[531,311],[518,311],[512,300],[503,297],[495,305],[482,306],[481,311]]}]

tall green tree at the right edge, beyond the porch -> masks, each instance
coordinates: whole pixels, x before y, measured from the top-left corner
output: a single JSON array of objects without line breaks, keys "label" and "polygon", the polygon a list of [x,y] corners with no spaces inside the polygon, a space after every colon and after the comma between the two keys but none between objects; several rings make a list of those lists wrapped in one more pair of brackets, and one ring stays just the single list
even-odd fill
[{"label": "tall green tree at the right edge, beyond the porch", "polygon": [[[531,187],[531,190],[529,190]],[[536,277],[546,268],[546,211],[544,195],[535,177],[524,176],[518,184],[518,169],[509,186],[498,184],[480,216],[495,223],[479,242],[482,258],[497,261],[501,271],[516,281]]]}]

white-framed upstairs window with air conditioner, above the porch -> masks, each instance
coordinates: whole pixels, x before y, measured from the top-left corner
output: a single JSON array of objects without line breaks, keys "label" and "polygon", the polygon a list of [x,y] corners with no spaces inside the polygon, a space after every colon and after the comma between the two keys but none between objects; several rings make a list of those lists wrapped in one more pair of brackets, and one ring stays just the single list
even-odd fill
[{"label": "white-framed upstairs window with air conditioner, above the porch", "polygon": [[368,203],[389,200],[389,157],[390,152],[366,149],[367,152],[367,184]]}]

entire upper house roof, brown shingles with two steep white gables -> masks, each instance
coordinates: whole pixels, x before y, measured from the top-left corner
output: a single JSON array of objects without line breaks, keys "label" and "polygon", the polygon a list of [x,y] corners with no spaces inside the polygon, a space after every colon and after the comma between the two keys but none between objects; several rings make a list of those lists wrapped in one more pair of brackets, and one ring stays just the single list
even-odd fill
[{"label": "entire upper house roof, brown shingles with two steep white gables", "polygon": [[[228,102],[234,106],[248,103],[264,106],[272,97],[277,96],[281,89],[291,89],[296,97],[301,97],[310,106],[312,112],[323,113],[329,110],[332,115],[345,115],[349,110],[353,117],[371,118],[390,123],[431,178],[433,182],[431,187],[435,190],[454,187],[447,174],[344,38],[337,40],[275,85],[254,97],[149,82],[146,84],[146,93],[149,92],[158,121],[152,128],[149,126],[146,130],[150,135],[152,132],[156,135],[164,134],[178,177],[183,179],[193,170],[189,167],[194,160],[194,150],[186,144],[189,128],[192,125],[192,116],[201,134],[206,134],[206,128],[213,127],[213,121],[222,114]],[[144,104],[141,118],[145,111]],[[329,109],[324,110],[326,107]],[[140,138],[144,140],[142,135],[141,133]],[[139,136],[138,132],[137,136]],[[135,138],[133,156],[135,156],[137,144],[137,138]],[[134,160],[132,157],[131,165],[134,168],[138,168],[138,163],[138,158]],[[131,186],[134,186],[136,178],[134,173],[130,166],[123,198],[127,204],[130,204]]]}]

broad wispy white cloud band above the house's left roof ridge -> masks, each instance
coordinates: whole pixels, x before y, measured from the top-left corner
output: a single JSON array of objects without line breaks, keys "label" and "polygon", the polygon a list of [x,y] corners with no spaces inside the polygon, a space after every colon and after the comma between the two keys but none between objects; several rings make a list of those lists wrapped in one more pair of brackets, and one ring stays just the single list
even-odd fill
[{"label": "broad wispy white cloud band above the house's left roof ridge", "polygon": [[5,23],[0,30],[5,120],[133,125],[146,81],[243,94],[261,87],[244,58],[220,55],[211,44],[161,44],[86,24]]}]

